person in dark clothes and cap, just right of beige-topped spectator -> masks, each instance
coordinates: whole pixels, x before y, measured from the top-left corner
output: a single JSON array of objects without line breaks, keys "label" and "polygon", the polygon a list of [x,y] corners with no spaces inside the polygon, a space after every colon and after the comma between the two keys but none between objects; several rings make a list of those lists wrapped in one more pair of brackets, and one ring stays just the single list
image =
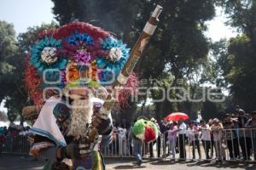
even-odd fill
[{"label": "person in dark clothes and cap, just right of beige-topped spectator", "polygon": [[232,114],[226,114],[224,119],[224,136],[230,153],[230,159],[239,158],[239,144],[236,137],[236,122],[232,119]]}]

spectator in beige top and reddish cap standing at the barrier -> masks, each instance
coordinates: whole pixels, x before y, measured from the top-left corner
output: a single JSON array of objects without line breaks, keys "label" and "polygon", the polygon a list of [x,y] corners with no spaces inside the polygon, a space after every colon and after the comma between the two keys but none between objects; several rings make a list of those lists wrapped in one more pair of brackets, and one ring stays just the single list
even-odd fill
[{"label": "spectator in beige top and reddish cap standing at the barrier", "polygon": [[210,129],[213,133],[213,140],[217,150],[217,162],[223,161],[225,159],[224,148],[222,146],[223,125],[221,122],[219,122],[218,118],[213,119],[212,126],[210,127]]}]

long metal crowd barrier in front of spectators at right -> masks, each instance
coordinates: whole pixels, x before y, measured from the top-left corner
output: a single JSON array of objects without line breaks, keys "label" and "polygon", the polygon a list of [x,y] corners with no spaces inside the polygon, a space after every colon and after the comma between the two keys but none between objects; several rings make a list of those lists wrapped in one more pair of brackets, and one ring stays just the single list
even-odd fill
[{"label": "long metal crowd barrier in front of spectators at right", "polygon": [[[111,144],[102,148],[102,155],[106,157],[133,157],[133,153],[132,139],[129,138],[129,135],[117,135]],[[142,145],[143,158],[167,161],[172,159],[170,153],[167,132],[161,134],[154,142],[143,143]],[[201,138],[196,141],[189,139],[187,135],[183,135],[183,137],[177,135],[175,159],[256,161],[256,128],[224,129],[218,139],[211,138],[211,140],[205,141],[202,141]]]}]

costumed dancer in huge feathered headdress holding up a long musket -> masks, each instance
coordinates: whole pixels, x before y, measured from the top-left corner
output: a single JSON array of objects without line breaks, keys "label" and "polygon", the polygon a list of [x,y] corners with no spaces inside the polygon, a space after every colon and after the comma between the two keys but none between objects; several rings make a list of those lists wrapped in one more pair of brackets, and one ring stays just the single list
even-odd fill
[{"label": "costumed dancer in huge feathered headdress holding up a long musket", "polygon": [[43,106],[32,127],[37,135],[31,153],[51,161],[45,169],[105,168],[98,145],[110,142],[113,105],[127,104],[136,91],[132,71],[161,9],[155,8],[131,56],[110,32],[79,21],[38,35],[25,82],[37,111]]}]

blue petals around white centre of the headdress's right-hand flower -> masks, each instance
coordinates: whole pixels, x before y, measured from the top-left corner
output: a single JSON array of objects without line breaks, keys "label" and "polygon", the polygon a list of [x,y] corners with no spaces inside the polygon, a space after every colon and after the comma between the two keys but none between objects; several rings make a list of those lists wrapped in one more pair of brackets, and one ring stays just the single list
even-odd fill
[{"label": "blue petals around white centre of the headdress's right-hand flower", "polygon": [[102,42],[102,48],[104,50],[110,50],[111,48],[120,48],[122,55],[118,60],[113,61],[110,59],[105,59],[103,56],[99,56],[96,59],[96,64],[100,69],[106,69],[107,71],[112,71],[117,77],[119,72],[125,66],[127,59],[129,58],[129,48],[126,48],[126,44],[121,41],[115,40],[112,37],[106,38],[105,41]]}]

